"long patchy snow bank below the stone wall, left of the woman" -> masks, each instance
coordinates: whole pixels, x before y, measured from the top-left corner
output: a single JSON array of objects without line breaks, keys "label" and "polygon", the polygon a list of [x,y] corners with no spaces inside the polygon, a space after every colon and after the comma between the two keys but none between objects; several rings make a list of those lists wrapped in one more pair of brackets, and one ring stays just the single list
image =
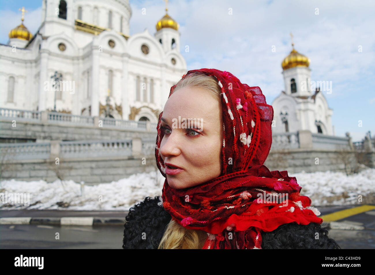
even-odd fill
[{"label": "long patchy snow bank below the stone wall, left of the woman", "polygon": [[43,180],[5,180],[1,181],[0,188],[3,196],[6,191],[30,193],[30,205],[0,204],[0,209],[129,210],[129,207],[135,203],[143,201],[145,196],[161,195],[164,180],[159,170],[138,173],[111,183],[85,185],[83,196],[81,196],[81,184],[72,180],[63,183],[60,180],[52,183]]}]

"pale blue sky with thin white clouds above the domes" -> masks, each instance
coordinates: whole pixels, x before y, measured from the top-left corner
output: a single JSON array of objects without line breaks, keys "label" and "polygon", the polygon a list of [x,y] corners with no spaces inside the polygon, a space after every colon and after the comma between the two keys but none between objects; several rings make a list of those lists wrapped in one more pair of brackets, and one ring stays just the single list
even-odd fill
[{"label": "pale blue sky with thin white clouds above the domes", "polygon": [[[0,0],[0,43],[6,44],[9,30],[20,24],[22,6],[28,10],[26,27],[32,33],[39,27],[42,0]],[[145,28],[154,35],[165,2],[130,0],[130,6],[130,35]],[[353,141],[367,131],[375,135],[374,10],[372,0],[168,2],[168,14],[180,24],[187,70],[229,71],[242,83],[259,86],[268,104],[284,90],[281,62],[291,51],[292,32],[294,48],[311,59],[311,79],[332,81],[332,93],[324,96],[336,135],[350,132]]]}]

